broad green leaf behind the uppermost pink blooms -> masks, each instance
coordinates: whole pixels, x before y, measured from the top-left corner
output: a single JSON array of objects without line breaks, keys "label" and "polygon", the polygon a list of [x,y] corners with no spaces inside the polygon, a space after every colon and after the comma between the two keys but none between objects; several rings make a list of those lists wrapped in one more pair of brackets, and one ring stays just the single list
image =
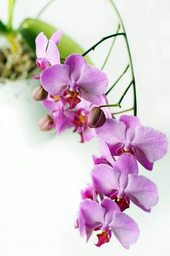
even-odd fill
[{"label": "broad green leaf behind the uppermost pink blooms", "polygon": [[[51,35],[54,34],[54,32],[56,31],[56,28],[48,25],[45,22],[29,18],[24,20],[18,29],[18,32],[21,33],[23,40],[26,42],[29,49],[31,49],[34,55],[35,38],[37,37],[37,35],[40,32],[44,32],[44,35],[46,35],[46,37],[50,39]],[[82,55],[84,52],[84,50],[79,47],[77,43],[75,43],[71,38],[66,35],[62,35],[59,45],[57,47],[59,49],[60,58],[67,58],[67,56],[71,55],[72,53],[79,53]],[[85,59],[87,60],[88,64],[93,65],[87,55],[85,56]]]}]

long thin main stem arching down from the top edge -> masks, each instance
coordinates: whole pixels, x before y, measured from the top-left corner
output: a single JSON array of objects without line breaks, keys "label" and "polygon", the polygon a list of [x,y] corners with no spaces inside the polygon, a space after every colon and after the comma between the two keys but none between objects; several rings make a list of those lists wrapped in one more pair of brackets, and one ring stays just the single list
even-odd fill
[{"label": "long thin main stem arching down from the top edge", "polygon": [[113,3],[112,0],[109,0],[113,6],[113,8],[115,9],[115,12],[118,16],[119,19],[119,24],[122,27],[122,30],[124,32],[124,36],[125,36],[125,43],[126,43],[126,47],[127,47],[127,52],[128,52],[128,57],[129,57],[129,65],[130,65],[130,70],[131,70],[131,77],[133,80],[133,111],[134,111],[134,116],[136,116],[136,112],[137,112],[137,104],[136,104],[136,87],[135,87],[135,78],[134,78],[134,72],[133,72],[133,64],[132,64],[132,58],[131,58],[131,54],[130,54],[130,48],[129,48],[129,44],[127,41],[127,36],[126,36],[126,32],[125,32],[125,27],[123,25],[122,19],[119,15],[119,12],[115,6],[115,4]]}]

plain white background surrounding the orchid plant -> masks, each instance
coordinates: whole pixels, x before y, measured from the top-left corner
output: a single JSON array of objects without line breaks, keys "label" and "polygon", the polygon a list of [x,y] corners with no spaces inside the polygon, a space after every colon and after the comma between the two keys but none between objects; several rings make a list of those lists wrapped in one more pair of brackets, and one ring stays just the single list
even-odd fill
[{"label": "plain white background surrounding the orchid plant", "polygon": [[[16,0],[14,26],[35,17],[47,2]],[[170,1],[115,0],[115,4],[130,44],[137,114],[143,125],[164,132],[170,140]],[[7,20],[7,0],[0,0],[0,19]],[[85,50],[115,33],[117,27],[108,0],[56,0],[41,19],[64,29]],[[91,52],[97,67],[102,66],[111,42],[105,41]],[[126,65],[125,44],[117,38],[105,67],[109,86]],[[129,81],[127,73],[110,93],[109,103],[117,102]],[[151,213],[133,204],[127,209],[139,224],[138,242],[126,250],[112,236],[108,244],[97,248],[94,233],[86,244],[74,229],[74,220],[80,189],[90,182],[91,154],[98,154],[96,139],[80,144],[79,135],[71,130],[59,138],[51,131],[40,132],[37,122],[47,112],[31,99],[32,88],[24,83],[6,88],[0,92],[0,256],[170,255],[170,154],[156,162],[152,172],[139,166],[140,174],[157,184],[159,203]],[[122,110],[132,107],[132,94],[130,90]],[[119,109],[112,109],[116,111]]]}]

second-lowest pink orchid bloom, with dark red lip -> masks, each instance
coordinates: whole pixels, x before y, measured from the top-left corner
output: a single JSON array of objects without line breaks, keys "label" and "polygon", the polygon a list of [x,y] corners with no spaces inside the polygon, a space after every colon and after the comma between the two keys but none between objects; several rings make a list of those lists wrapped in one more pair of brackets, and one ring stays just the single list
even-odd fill
[{"label": "second-lowest pink orchid bloom, with dark red lip", "polygon": [[158,202],[158,190],[155,183],[143,175],[138,175],[138,165],[135,157],[122,154],[112,168],[106,164],[94,166],[92,179],[102,194],[111,199],[118,199],[116,204],[121,211],[129,207],[130,201],[150,212]]}]

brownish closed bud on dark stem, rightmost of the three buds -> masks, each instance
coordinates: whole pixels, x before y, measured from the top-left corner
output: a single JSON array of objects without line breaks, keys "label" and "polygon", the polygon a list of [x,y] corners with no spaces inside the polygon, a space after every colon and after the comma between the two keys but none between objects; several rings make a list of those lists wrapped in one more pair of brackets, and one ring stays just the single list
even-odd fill
[{"label": "brownish closed bud on dark stem, rightmost of the three buds", "polygon": [[88,126],[90,128],[99,128],[105,124],[106,116],[101,108],[94,107],[88,114]]}]

